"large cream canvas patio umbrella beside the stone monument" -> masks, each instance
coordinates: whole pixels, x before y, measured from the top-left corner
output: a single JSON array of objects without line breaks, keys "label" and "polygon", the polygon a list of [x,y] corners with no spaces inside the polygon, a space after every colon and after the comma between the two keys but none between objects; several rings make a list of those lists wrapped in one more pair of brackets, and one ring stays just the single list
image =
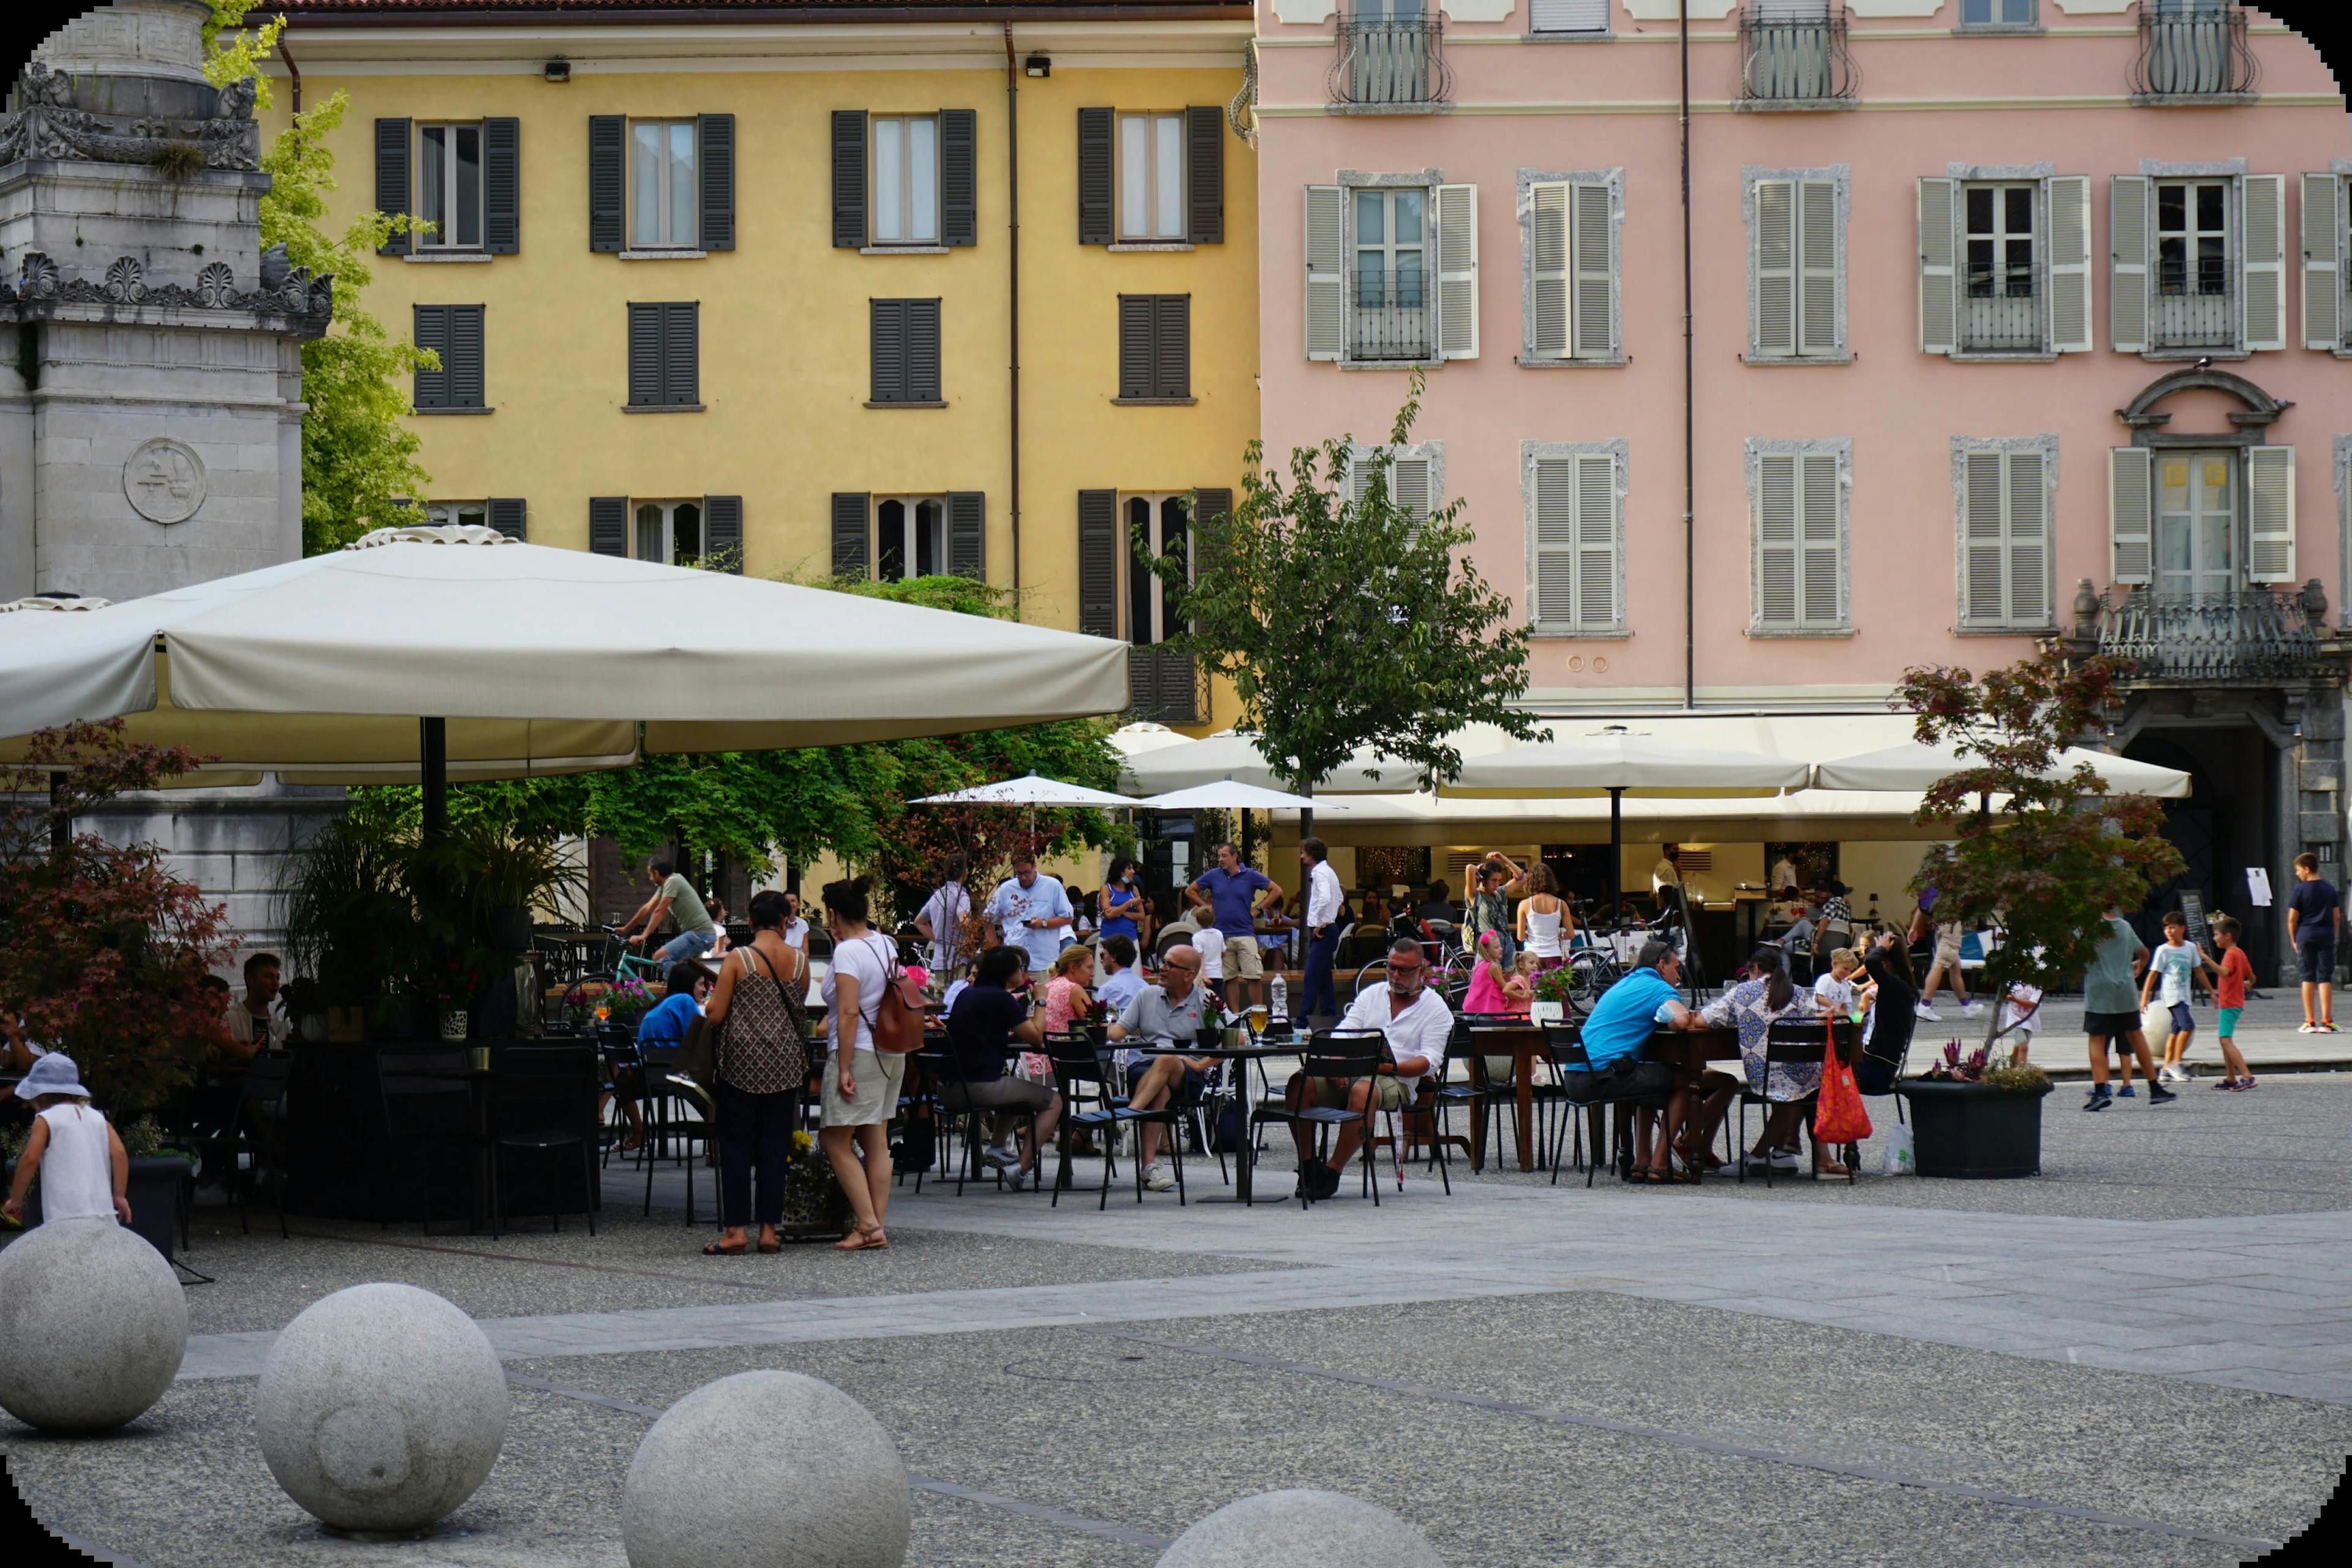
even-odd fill
[{"label": "large cream canvas patio umbrella beside the stone monument", "polygon": [[0,616],[0,757],[122,715],[301,783],[626,766],[1117,712],[1117,642],[515,543],[379,529],[75,616]]}]

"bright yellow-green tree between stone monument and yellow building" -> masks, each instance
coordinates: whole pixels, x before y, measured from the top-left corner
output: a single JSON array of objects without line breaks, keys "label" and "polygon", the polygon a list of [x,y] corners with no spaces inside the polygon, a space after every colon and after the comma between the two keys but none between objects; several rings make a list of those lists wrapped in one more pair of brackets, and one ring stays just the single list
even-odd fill
[{"label": "bright yellow-green tree between stone monument and yellow building", "polygon": [[[212,0],[212,38],[205,78],[226,85],[254,78],[254,103],[268,108],[270,80],[259,61],[278,45],[285,16],[245,31],[254,0]],[[372,256],[395,233],[428,228],[409,214],[367,212],[341,235],[325,228],[334,186],[334,153],[327,139],[343,125],[350,101],[339,92],[301,110],[261,153],[270,188],[261,195],[261,244],[287,247],[287,261],[334,277],[334,322],[327,336],[301,348],[301,548],[303,555],[339,550],[367,529],[397,515],[400,503],[423,496],[430,477],[416,463],[419,437],[402,423],[409,411],[405,381],[419,369],[437,369],[433,350],[383,331],[360,294],[374,270]]]}]

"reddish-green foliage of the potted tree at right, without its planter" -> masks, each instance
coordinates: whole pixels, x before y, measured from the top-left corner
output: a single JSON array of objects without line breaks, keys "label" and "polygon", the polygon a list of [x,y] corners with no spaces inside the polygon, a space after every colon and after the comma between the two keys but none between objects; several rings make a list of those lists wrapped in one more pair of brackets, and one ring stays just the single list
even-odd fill
[{"label": "reddish-green foliage of the potted tree at right, without its planter", "polygon": [[[2056,649],[1983,679],[1957,668],[1915,668],[1896,686],[1922,745],[1950,743],[1962,769],[1919,802],[1919,825],[1950,837],[1919,860],[1912,891],[1936,884],[1938,919],[2002,926],[1985,957],[1985,994],[2011,980],[2042,990],[2077,985],[2091,966],[2110,907],[2136,907],[2147,889],[2180,875],[2164,809],[2145,795],[2107,795],[2084,762],[2058,766],[2077,736],[2100,726],[2126,661],[2074,661]],[[1985,1009],[1985,1046],[2002,1009]]]}]

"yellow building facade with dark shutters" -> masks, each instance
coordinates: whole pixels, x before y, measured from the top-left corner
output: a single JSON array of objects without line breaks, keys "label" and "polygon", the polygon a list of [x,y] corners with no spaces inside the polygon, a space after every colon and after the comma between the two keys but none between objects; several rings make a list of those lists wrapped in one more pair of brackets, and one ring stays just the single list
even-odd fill
[{"label": "yellow building facade with dark shutters", "polygon": [[[350,101],[329,221],[435,221],[367,301],[445,360],[437,517],[1164,635],[1124,531],[1181,545],[1258,428],[1247,5],[282,9],[266,129],[296,80]],[[1141,717],[1211,724],[1136,670]]]}]

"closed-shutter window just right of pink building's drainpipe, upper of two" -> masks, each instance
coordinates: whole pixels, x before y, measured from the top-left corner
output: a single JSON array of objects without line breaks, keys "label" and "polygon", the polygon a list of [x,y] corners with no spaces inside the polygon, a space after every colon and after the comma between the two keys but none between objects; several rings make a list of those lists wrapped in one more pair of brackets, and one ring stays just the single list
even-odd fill
[{"label": "closed-shutter window just right of pink building's drainpipe, upper of two", "polygon": [[1846,165],[1745,169],[1748,362],[1844,364]]}]

